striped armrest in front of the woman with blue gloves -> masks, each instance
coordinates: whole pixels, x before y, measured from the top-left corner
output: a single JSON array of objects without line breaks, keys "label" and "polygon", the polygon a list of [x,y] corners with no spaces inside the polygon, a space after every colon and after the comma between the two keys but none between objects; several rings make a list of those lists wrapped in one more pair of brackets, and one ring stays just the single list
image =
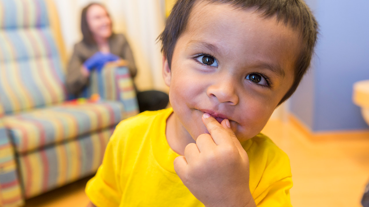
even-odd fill
[{"label": "striped armrest in front of the woman with blue gloves", "polygon": [[93,71],[87,89],[89,95],[99,94],[102,99],[122,102],[124,119],[139,113],[136,90],[126,65],[122,60],[107,64],[101,72]]}]

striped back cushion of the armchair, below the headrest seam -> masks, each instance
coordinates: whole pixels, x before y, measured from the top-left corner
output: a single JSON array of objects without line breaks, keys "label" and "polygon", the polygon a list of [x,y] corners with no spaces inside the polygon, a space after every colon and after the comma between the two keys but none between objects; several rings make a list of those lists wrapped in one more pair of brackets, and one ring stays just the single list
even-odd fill
[{"label": "striped back cushion of the armchair, below the headrest seam", "polygon": [[65,100],[65,74],[50,28],[0,29],[0,101],[11,114]]}]

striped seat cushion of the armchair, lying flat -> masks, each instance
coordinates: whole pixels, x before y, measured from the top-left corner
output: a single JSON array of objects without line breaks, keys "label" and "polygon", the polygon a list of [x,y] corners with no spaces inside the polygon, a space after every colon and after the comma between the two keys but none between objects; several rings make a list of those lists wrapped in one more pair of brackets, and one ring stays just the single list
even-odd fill
[{"label": "striped seat cushion of the armchair, lying flat", "polygon": [[65,102],[62,105],[5,116],[4,125],[18,153],[73,139],[120,122],[121,102]]}]

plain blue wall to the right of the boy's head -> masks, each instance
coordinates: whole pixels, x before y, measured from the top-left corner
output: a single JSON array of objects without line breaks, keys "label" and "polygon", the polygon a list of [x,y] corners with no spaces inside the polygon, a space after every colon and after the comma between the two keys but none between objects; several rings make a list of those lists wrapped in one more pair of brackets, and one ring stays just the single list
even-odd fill
[{"label": "plain blue wall to the right of the boy's head", "polygon": [[[306,3],[320,24],[320,35],[313,78],[306,78],[293,95],[291,111],[313,131],[369,129],[352,103],[352,84],[369,79],[369,1]],[[309,101],[313,103],[301,104]]]}]

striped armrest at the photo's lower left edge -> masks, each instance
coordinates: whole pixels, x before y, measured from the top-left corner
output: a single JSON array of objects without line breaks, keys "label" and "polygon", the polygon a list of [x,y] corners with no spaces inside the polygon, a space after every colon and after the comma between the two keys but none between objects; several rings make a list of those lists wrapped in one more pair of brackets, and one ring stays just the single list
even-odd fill
[{"label": "striped armrest at the photo's lower left edge", "polygon": [[0,206],[24,205],[13,145],[0,118]]}]

